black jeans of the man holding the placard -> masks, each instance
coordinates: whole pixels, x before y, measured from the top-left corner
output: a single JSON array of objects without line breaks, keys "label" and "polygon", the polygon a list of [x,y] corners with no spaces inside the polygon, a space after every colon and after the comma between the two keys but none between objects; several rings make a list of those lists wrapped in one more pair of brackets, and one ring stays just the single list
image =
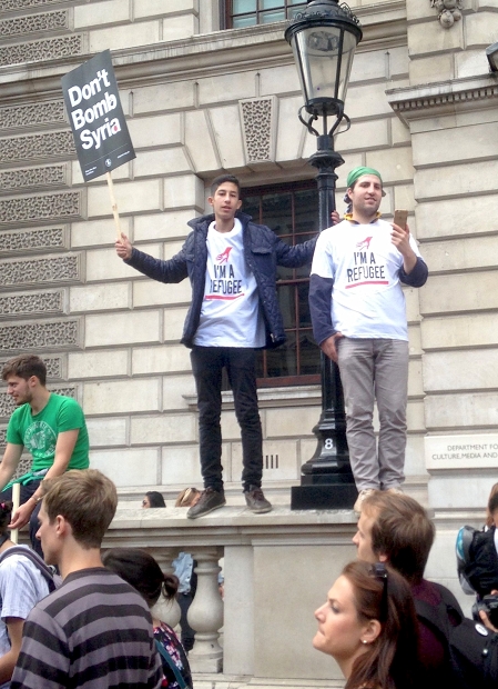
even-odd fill
[{"label": "black jeans of the man holding the placard", "polygon": [[263,435],[256,391],[256,352],[245,347],[194,347],[192,371],[197,388],[199,442],[204,488],[223,490],[222,371],[226,369],[242,436],[242,485],[261,487]]}]

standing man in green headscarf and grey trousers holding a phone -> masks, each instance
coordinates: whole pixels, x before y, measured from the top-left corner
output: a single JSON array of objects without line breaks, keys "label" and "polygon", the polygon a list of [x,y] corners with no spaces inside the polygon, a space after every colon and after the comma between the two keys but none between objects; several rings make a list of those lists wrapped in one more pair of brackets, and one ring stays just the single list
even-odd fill
[{"label": "standing man in green headscarf and grey trousers holding a phone", "polygon": [[[428,272],[408,226],[379,219],[383,194],[376,170],[349,172],[350,212],[321,233],[309,280],[315,339],[341,371],[358,512],[372,490],[402,492],[408,387],[402,282],[421,287]],[[378,451],[375,399],[380,421]]]}]

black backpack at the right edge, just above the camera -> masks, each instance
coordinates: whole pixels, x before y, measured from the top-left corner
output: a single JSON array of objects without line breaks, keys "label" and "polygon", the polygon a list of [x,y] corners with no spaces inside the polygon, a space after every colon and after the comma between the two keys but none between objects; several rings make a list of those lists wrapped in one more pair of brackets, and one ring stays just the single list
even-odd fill
[{"label": "black backpack at the right edge, just above the camera", "polygon": [[458,575],[465,579],[479,598],[498,589],[498,553],[495,546],[495,527],[487,531],[461,527],[457,536]]}]

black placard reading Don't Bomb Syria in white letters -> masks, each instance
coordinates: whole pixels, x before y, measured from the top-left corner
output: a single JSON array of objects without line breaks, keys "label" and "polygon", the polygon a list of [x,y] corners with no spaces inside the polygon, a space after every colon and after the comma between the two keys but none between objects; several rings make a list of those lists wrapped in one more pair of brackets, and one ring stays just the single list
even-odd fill
[{"label": "black placard reading Don't Bomb Syria in white letters", "polygon": [[64,74],[62,91],[85,182],[136,158],[110,50]]}]

